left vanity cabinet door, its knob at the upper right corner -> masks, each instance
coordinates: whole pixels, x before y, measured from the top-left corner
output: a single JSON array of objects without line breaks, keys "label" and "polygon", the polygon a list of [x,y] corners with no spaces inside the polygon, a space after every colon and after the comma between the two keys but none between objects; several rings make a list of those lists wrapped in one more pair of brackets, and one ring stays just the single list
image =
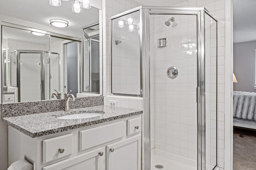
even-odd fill
[{"label": "left vanity cabinet door, its knob at the upper right corner", "polygon": [[105,156],[106,154],[103,148],[95,149],[73,158],[45,166],[43,170],[105,170]]}]

